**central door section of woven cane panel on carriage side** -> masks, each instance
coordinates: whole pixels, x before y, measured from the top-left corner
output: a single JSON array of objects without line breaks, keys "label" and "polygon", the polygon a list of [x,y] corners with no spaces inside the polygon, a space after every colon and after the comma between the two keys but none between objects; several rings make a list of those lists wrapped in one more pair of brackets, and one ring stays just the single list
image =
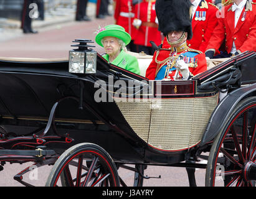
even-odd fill
[{"label": "central door section of woven cane panel on carriage side", "polygon": [[164,150],[189,145],[194,99],[162,99],[161,109],[153,109],[148,144]]}]

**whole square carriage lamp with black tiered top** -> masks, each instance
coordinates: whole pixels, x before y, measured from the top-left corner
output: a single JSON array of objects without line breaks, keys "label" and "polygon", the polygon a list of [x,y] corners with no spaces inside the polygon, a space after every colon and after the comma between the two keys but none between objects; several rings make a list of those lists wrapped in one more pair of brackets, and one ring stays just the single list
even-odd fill
[{"label": "whole square carriage lamp with black tiered top", "polygon": [[94,74],[97,70],[97,52],[90,47],[87,43],[93,43],[92,40],[75,39],[73,42],[78,42],[77,45],[71,45],[72,47],[78,47],[69,51],[69,72],[80,74]]}]

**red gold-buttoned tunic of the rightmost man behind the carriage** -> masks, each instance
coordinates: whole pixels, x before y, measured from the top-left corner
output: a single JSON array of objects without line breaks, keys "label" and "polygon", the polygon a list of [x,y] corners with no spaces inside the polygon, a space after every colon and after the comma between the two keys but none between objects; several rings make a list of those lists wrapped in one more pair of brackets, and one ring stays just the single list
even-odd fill
[{"label": "red gold-buttoned tunic of the rightmost man behind the carriage", "polygon": [[[244,15],[245,17],[243,17]],[[247,1],[236,27],[234,24],[235,12],[232,11],[232,4],[229,4],[224,7],[224,13],[219,18],[218,25],[207,45],[207,50],[216,51],[222,42],[225,42],[225,50],[230,53],[233,42],[235,42],[237,51],[256,51],[256,4]]]}]

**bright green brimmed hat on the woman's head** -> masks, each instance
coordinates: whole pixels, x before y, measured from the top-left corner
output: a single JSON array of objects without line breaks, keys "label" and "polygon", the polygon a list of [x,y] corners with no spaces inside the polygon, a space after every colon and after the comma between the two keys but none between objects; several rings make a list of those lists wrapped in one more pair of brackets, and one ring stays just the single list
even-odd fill
[{"label": "bright green brimmed hat on the woman's head", "polygon": [[128,45],[131,41],[130,34],[125,32],[125,29],[120,25],[107,25],[102,29],[98,30],[97,32],[98,34],[95,37],[95,42],[102,47],[102,39],[104,37],[116,37],[123,40],[123,42],[125,42],[125,45]]}]

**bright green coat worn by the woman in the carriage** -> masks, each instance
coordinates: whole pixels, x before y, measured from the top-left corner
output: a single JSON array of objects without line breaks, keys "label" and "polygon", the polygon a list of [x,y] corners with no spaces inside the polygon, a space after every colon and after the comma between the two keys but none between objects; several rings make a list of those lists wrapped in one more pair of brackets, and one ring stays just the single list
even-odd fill
[{"label": "bright green coat worn by the woman in the carriage", "polygon": [[[109,63],[109,55],[103,55],[103,58]],[[120,68],[124,68],[125,70],[129,70],[130,72],[136,73],[140,75],[140,67],[136,57],[133,55],[129,55],[124,50],[121,50],[119,55],[111,62],[113,65],[116,65]]]}]

